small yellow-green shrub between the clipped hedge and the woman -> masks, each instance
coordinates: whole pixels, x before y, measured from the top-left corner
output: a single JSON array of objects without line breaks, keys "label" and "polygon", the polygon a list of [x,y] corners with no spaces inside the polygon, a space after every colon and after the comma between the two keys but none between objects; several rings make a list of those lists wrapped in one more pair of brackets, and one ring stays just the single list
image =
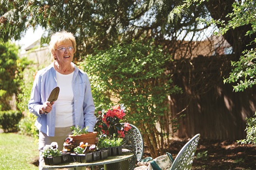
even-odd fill
[{"label": "small yellow-green shrub between the clipped hedge and the woman", "polygon": [[34,125],[36,118],[37,117],[32,113],[28,113],[28,115],[25,118],[22,118],[19,122],[19,132],[21,134],[29,135],[35,139],[38,139],[39,131]]}]

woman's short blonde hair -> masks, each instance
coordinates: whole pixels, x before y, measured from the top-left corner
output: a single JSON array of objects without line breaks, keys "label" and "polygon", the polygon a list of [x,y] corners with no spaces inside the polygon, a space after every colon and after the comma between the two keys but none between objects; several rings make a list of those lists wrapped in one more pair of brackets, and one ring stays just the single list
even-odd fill
[{"label": "woman's short blonde hair", "polygon": [[54,60],[57,60],[57,58],[54,56],[54,51],[56,50],[57,46],[61,43],[67,43],[69,40],[71,40],[72,45],[74,47],[74,53],[76,52],[76,41],[75,37],[71,32],[67,31],[61,31],[56,32],[52,35],[51,41],[49,42],[49,50],[52,53],[52,57]]}]

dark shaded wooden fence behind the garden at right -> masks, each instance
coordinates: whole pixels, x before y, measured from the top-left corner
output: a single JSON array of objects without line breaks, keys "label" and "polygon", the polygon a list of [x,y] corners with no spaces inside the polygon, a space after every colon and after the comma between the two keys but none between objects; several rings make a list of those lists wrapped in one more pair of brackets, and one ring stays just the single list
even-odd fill
[{"label": "dark shaded wooden fence behind the garden at right", "polygon": [[244,118],[255,114],[256,87],[233,92],[231,84],[223,83],[231,70],[227,57],[232,56],[198,57],[187,65],[176,63],[173,81],[183,88],[183,94],[171,95],[171,112],[176,118],[185,114],[176,136],[200,133],[209,139],[246,137]]}]

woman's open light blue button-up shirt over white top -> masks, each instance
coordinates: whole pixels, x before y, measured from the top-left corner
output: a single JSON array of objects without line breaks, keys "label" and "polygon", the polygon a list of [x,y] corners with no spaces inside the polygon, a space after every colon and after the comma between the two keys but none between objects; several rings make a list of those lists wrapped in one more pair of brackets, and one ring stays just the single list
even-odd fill
[{"label": "woman's open light blue button-up shirt over white top", "polygon": [[[71,64],[74,65],[73,63]],[[90,81],[84,71],[78,69],[75,65],[74,68],[72,90],[74,93],[73,112],[75,126],[78,125],[81,128],[89,126],[88,131],[94,131],[96,116],[94,115],[95,105],[93,102]],[[52,111],[47,115],[40,115],[39,111],[43,103],[47,101],[51,91],[56,86],[56,70],[52,63],[48,67],[37,72],[30,94],[30,100],[28,102],[29,112],[38,117],[35,126],[39,131],[46,133],[47,136],[54,136],[55,134],[56,108],[55,105],[53,105]]]}]

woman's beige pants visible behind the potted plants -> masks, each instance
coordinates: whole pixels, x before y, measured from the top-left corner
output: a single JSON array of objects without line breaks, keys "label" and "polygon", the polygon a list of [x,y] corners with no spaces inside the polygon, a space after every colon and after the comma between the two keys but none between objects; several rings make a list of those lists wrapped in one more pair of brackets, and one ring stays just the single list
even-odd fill
[{"label": "woman's beige pants visible behind the potted plants", "polygon": [[[63,149],[63,144],[64,141],[66,140],[66,138],[69,137],[69,135],[71,134],[71,126],[70,127],[65,127],[65,128],[55,128],[55,136],[47,136],[45,133],[43,132],[39,132],[39,150],[43,150],[43,147],[46,144],[51,144],[52,142],[57,142],[58,144],[58,150],[62,150]],[[43,168],[42,165],[44,163],[43,160],[43,154],[40,151],[39,154],[39,170],[55,170],[55,169],[46,169]],[[73,168],[70,168],[69,170],[73,170]],[[85,170],[85,167],[78,167],[76,168],[76,170]]]}]

